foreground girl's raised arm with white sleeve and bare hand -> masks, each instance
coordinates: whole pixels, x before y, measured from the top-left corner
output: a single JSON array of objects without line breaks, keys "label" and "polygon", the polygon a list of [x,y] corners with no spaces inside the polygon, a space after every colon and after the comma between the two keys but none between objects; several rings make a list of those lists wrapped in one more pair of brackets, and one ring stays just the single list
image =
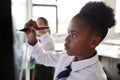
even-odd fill
[{"label": "foreground girl's raised arm with white sleeve and bare hand", "polygon": [[28,29],[25,31],[25,34],[30,56],[39,64],[56,67],[61,53],[56,53],[56,51],[45,51],[42,48],[36,37],[35,26],[36,23],[33,20],[29,20],[24,27],[25,29]]}]

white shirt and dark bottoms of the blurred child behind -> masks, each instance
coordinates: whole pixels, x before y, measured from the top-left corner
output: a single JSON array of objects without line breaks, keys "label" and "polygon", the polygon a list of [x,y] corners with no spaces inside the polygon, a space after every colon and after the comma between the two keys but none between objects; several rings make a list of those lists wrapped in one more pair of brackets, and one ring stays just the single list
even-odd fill
[{"label": "white shirt and dark bottoms of the blurred child behind", "polygon": [[[41,36],[37,36],[39,43],[42,45],[42,48],[46,51],[55,50],[55,42],[51,35],[48,33]],[[32,56],[31,56],[32,57]],[[54,67],[44,66],[35,61],[35,78],[34,80],[53,80]]]}]

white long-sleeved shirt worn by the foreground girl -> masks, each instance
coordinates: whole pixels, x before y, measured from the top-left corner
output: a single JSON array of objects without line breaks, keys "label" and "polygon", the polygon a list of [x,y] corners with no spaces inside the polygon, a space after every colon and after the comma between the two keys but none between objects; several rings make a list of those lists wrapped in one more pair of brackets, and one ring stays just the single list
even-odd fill
[{"label": "white long-sleeved shirt worn by the foreground girl", "polygon": [[34,46],[30,46],[29,44],[28,46],[31,52],[30,55],[34,57],[38,63],[56,67],[54,80],[71,62],[72,71],[67,80],[107,80],[97,54],[92,58],[74,62],[74,56],[67,55],[65,51],[61,53],[55,51],[46,52],[41,48],[39,42]]}]

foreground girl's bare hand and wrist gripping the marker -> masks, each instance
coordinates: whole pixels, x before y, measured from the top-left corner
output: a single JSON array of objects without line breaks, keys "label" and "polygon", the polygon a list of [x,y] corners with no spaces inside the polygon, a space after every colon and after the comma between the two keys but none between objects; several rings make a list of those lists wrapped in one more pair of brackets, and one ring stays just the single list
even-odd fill
[{"label": "foreground girl's bare hand and wrist gripping the marker", "polygon": [[32,19],[29,20],[24,26],[24,28],[28,29],[28,31],[25,32],[27,41],[32,46],[34,46],[37,43],[37,37],[35,31],[36,26],[37,26],[36,22],[33,21]]}]

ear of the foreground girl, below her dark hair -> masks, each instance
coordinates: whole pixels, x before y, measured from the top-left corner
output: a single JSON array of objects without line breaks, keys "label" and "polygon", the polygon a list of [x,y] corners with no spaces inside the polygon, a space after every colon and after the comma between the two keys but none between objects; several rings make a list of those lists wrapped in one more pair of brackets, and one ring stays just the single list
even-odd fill
[{"label": "ear of the foreground girl, below her dark hair", "polygon": [[96,46],[101,42],[100,36],[93,36],[91,38],[90,48],[96,48]]}]

